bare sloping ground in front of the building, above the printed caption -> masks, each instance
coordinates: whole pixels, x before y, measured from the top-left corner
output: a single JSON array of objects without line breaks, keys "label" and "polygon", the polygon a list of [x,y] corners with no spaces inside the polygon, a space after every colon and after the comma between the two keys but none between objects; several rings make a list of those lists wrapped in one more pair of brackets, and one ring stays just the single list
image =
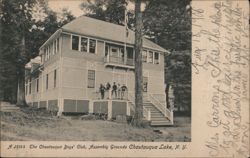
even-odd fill
[{"label": "bare sloping ground in front of the building, above the printed caption", "polygon": [[57,117],[31,107],[10,112],[1,110],[0,115],[3,141],[191,141],[189,117],[176,117],[172,127],[136,128],[96,118]]}]

